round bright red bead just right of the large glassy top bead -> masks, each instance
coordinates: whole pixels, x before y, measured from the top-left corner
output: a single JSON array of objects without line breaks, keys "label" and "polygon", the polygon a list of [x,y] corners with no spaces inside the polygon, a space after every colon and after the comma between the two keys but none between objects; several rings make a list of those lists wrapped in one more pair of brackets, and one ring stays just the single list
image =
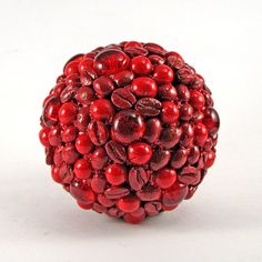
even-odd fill
[{"label": "round bright red bead just right of the large glassy top bead", "polygon": [[131,60],[130,68],[138,75],[148,75],[153,66],[147,57],[138,56]]}]

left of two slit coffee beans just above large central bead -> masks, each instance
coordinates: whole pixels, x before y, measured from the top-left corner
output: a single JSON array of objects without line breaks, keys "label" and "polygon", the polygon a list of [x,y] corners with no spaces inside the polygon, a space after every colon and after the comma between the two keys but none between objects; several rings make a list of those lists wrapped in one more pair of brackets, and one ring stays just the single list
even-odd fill
[{"label": "left of two slit coffee beans just above large central bead", "polygon": [[129,109],[135,103],[137,99],[129,88],[120,88],[113,91],[111,101],[117,108]]}]

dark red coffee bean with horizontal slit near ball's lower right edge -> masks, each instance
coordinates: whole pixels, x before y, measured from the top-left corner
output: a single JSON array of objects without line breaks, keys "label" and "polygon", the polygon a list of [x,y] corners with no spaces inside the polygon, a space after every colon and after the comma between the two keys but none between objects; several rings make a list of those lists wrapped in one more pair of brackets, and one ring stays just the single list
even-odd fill
[{"label": "dark red coffee bean with horizontal slit near ball's lower right edge", "polygon": [[200,170],[191,165],[184,167],[178,175],[178,180],[183,184],[195,185],[200,182]]}]

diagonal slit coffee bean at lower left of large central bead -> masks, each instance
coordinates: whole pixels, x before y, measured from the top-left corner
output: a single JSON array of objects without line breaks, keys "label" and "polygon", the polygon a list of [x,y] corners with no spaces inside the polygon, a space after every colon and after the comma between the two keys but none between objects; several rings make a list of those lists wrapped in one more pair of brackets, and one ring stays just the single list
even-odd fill
[{"label": "diagonal slit coffee bean at lower left of large central bead", "polygon": [[124,163],[127,161],[127,152],[124,147],[117,142],[117,141],[109,141],[105,144],[105,151],[109,155],[109,158],[114,162],[114,163]]}]

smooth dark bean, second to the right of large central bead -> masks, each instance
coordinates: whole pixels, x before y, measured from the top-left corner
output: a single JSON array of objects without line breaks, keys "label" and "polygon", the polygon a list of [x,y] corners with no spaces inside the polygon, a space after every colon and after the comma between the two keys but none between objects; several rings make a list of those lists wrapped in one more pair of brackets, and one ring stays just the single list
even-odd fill
[{"label": "smooth dark bean, second to the right of large central bead", "polygon": [[182,129],[179,127],[169,127],[162,130],[159,139],[159,143],[165,148],[173,148],[181,138]]}]

